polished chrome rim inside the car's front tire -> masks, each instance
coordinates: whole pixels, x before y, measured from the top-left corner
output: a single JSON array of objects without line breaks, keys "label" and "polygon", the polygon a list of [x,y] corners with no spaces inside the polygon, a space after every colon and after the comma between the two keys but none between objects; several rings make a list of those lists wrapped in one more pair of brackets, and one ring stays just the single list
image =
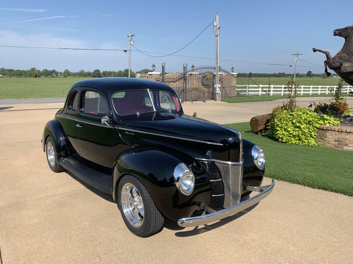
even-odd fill
[{"label": "polished chrome rim inside the car's front tire", "polygon": [[137,189],[131,183],[125,183],[121,189],[121,207],[127,221],[133,227],[140,227],[143,223],[145,211],[143,202]]}]

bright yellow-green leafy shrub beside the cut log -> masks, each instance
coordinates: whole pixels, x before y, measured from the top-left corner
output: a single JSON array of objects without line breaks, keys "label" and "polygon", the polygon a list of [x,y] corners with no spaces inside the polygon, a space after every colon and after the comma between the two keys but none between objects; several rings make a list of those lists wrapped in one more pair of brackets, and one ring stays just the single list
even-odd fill
[{"label": "bright yellow-green leafy shrub beside the cut log", "polygon": [[287,144],[318,146],[316,129],[320,125],[339,124],[339,119],[320,116],[312,109],[297,106],[289,111],[287,106],[279,106],[273,109],[268,129],[263,134]]}]

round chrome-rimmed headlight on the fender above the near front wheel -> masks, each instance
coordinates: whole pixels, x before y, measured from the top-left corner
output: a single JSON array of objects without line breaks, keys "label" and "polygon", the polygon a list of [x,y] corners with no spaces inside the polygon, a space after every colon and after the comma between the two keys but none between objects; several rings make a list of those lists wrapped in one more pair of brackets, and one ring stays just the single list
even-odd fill
[{"label": "round chrome-rimmed headlight on the fender above the near front wheel", "polygon": [[195,176],[184,163],[179,163],[174,169],[174,182],[179,191],[190,195],[195,187]]}]

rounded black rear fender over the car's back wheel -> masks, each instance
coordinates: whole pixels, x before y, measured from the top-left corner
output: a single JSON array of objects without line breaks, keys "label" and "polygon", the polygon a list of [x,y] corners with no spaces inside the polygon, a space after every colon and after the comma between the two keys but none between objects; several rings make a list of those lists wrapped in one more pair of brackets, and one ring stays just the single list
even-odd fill
[{"label": "rounded black rear fender over the car's back wheel", "polygon": [[45,151],[45,145],[47,137],[50,136],[54,141],[54,147],[56,152],[56,161],[59,161],[60,157],[67,157],[67,144],[66,135],[64,129],[62,128],[60,122],[58,120],[50,120],[44,127],[43,136],[42,136],[42,146],[43,151]]}]

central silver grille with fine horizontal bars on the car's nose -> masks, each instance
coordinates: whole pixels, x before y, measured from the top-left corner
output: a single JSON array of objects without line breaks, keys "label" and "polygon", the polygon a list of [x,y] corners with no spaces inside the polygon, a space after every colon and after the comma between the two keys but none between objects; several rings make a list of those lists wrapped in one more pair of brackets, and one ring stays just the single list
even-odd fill
[{"label": "central silver grille with fine horizontal bars on the car's nose", "polygon": [[224,205],[227,208],[240,202],[241,184],[243,182],[243,166],[215,162],[221,172],[224,186]]}]

